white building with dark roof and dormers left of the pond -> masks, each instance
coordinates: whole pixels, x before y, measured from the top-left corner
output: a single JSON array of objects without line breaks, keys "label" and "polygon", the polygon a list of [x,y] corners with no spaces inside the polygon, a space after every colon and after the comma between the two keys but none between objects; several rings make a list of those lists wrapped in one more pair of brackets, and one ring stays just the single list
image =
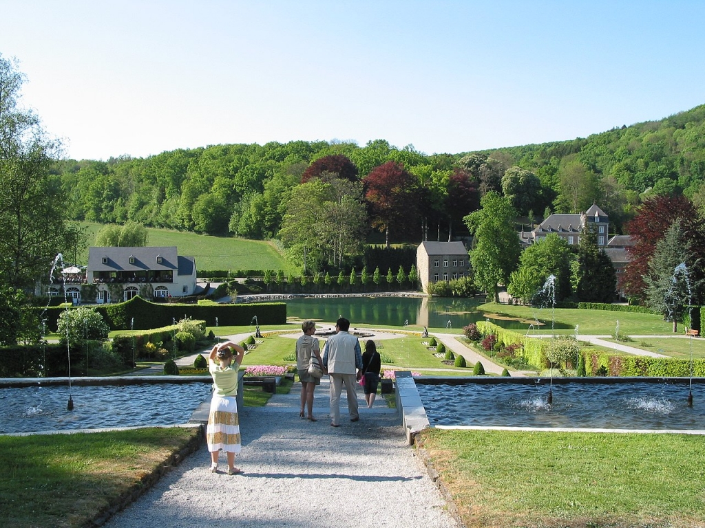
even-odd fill
[{"label": "white building with dark roof and dormers left of the pond", "polygon": [[196,261],[176,246],[91,247],[86,279],[97,287],[96,298],[86,302],[182,297],[196,289]]}]

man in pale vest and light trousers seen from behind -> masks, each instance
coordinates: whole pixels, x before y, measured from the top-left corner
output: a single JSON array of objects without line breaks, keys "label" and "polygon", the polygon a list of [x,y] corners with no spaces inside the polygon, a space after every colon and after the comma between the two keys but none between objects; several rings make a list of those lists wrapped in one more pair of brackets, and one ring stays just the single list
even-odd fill
[{"label": "man in pale vest and light trousers seen from behind", "polygon": [[350,422],[360,420],[357,410],[355,380],[362,377],[362,351],[357,337],[348,334],[350,321],[336,321],[336,335],[331,336],[323,348],[323,367],[331,378],[331,426],[341,425],[341,391],[345,384],[348,394]]}]

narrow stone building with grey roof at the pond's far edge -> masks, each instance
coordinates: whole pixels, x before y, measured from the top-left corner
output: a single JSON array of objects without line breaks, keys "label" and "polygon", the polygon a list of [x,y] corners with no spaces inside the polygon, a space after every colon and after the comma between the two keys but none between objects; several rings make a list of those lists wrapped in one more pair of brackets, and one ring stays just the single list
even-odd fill
[{"label": "narrow stone building with grey roof at the pond's far edge", "polygon": [[416,268],[421,287],[427,291],[431,282],[465,277],[470,258],[462,242],[422,242],[416,249]]}]

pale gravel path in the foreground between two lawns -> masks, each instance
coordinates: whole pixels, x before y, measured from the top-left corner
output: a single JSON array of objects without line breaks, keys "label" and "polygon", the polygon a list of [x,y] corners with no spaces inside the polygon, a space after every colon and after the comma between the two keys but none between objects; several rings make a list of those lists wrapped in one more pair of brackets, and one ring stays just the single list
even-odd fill
[{"label": "pale gravel path in the foreground between two lawns", "polygon": [[368,409],[358,391],[360,421],[329,425],[329,384],[316,389],[317,422],[298,416],[300,385],[264,408],[240,413],[245,473],[209,472],[205,446],[118,513],[114,528],[377,527],[456,528],[422,461],[405,443],[396,411],[377,398]]}]

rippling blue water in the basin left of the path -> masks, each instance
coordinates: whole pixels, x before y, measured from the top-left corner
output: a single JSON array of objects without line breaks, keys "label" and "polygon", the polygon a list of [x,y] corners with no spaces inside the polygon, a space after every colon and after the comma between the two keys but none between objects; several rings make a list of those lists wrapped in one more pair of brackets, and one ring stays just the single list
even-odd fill
[{"label": "rippling blue water in the basin left of the path", "polygon": [[[194,382],[0,389],[0,433],[185,423],[211,387]],[[76,405],[68,411],[70,390]]]}]

